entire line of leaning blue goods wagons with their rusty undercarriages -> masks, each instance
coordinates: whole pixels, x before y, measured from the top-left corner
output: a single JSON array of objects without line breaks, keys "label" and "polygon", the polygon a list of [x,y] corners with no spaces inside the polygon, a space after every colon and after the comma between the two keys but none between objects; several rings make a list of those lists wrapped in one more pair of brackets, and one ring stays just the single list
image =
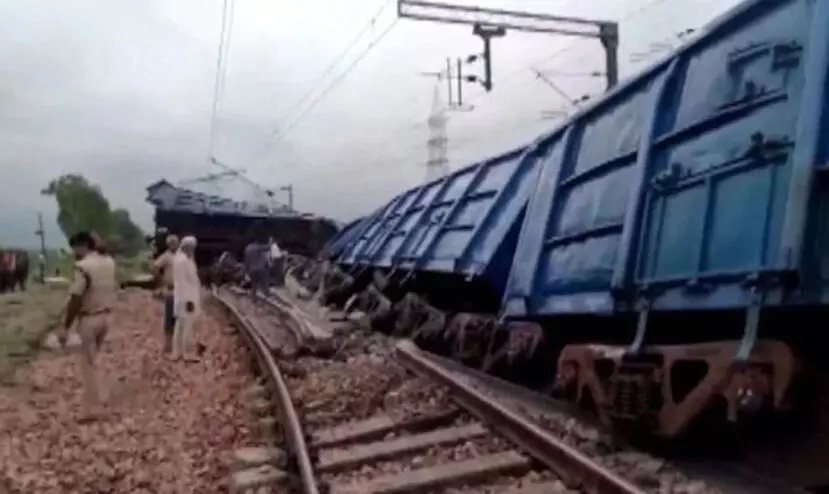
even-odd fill
[{"label": "entire line of leaning blue goods wagons with their rusty undercarriages", "polygon": [[825,451],[827,71],[829,1],[746,1],[527,145],[397,195],[296,276],[616,427],[783,417]]}]

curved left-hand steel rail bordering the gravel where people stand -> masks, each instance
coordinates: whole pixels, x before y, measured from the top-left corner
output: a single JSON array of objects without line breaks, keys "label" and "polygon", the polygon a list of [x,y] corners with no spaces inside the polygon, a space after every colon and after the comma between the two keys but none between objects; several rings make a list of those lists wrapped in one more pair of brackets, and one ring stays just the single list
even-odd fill
[{"label": "curved left-hand steel rail bordering the gravel where people stand", "polygon": [[215,289],[213,291],[213,297],[239,322],[243,337],[247,340],[249,348],[256,354],[259,368],[265,371],[268,380],[271,382],[277,402],[276,412],[282,419],[285,436],[288,439],[288,447],[291,449],[291,453],[296,461],[296,467],[302,481],[302,492],[304,494],[320,494],[299,416],[294,408],[291,395],[288,392],[285,378],[276,365],[276,360],[268,349],[268,345],[255,326],[239,312],[232,302],[220,295]]}]

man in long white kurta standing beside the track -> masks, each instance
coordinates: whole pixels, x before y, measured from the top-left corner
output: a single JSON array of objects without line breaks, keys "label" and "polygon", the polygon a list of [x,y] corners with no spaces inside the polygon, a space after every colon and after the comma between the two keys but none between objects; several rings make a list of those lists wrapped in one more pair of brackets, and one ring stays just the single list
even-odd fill
[{"label": "man in long white kurta standing beside the track", "polygon": [[173,313],[176,326],[173,332],[173,360],[197,362],[193,353],[193,327],[201,313],[201,284],[193,254],[195,237],[184,237],[173,259]]}]

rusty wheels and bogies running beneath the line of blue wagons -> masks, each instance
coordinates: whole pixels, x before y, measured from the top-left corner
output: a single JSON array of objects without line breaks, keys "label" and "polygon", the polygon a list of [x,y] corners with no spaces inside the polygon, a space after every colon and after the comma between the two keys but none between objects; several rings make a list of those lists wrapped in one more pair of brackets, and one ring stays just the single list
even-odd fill
[{"label": "rusty wheels and bogies running beneath the line of blue wagons", "polygon": [[[524,370],[523,376],[509,376],[512,380],[532,381],[526,371],[544,372],[534,387],[590,409],[616,429],[670,438],[684,435],[712,409],[734,424],[770,411],[787,413],[804,370],[794,345],[775,338],[749,335],[752,341],[746,341],[735,334],[728,340],[638,347],[623,340],[592,342],[607,341],[600,338],[549,342],[544,330],[549,322],[499,321],[494,311],[456,312],[417,293],[390,295],[399,291],[395,281],[376,272],[355,277],[319,264],[297,267],[290,277],[323,305],[361,313],[374,330],[411,337],[467,365],[496,374]],[[635,338],[632,326],[625,334]]]}]

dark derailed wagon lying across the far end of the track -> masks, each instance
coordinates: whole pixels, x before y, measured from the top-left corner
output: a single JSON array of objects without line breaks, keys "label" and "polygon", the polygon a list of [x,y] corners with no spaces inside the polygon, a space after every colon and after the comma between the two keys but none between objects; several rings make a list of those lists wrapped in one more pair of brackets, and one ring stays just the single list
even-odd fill
[{"label": "dark derailed wagon lying across the far end of the track", "polygon": [[147,188],[147,202],[155,206],[157,250],[167,233],[194,235],[201,269],[214,265],[225,252],[240,259],[254,236],[272,237],[291,254],[312,257],[338,232],[336,223],[319,216],[264,205],[232,201],[175,187],[161,180]]}]

